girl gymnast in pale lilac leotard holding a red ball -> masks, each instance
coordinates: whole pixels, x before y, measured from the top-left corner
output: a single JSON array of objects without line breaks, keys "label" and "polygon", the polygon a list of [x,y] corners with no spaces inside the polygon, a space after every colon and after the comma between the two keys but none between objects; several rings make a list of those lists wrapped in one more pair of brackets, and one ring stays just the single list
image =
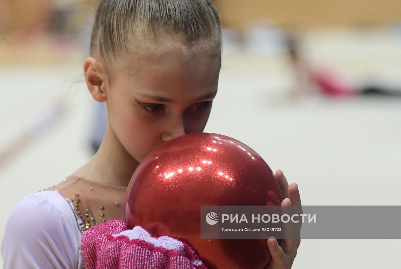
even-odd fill
[{"label": "girl gymnast in pale lilac leotard holding a red ball", "polygon": [[[221,67],[211,0],[101,0],[90,52],[85,81],[93,99],[106,104],[105,136],[97,153],[61,183],[22,198],[7,222],[4,269],[85,268],[81,234],[123,219],[139,163],[174,137],[202,132],[209,118]],[[275,177],[282,205],[300,205],[298,185],[289,186],[281,170]],[[268,239],[268,268],[292,266],[300,240],[282,242]]]}]

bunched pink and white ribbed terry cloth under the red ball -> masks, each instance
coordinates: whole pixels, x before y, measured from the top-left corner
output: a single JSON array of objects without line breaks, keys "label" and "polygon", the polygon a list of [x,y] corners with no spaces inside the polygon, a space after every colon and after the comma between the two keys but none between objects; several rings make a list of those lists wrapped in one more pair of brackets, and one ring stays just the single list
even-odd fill
[{"label": "bunched pink and white ribbed terry cloth under the red ball", "polygon": [[87,269],[207,269],[186,243],[118,220],[83,232],[81,253]]}]

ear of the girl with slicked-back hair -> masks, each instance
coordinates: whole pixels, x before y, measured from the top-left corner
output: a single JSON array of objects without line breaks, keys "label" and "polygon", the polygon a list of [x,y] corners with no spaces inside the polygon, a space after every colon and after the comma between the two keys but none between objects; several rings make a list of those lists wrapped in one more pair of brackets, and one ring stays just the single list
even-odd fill
[{"label": "ear of the girl with slicked-back hair", "polygon": [[107,93],[105,91],[105,72],[100,63],[93,57],[86,58],[83,63],[83,72],[89,92],[97,102],[105,102]]}]

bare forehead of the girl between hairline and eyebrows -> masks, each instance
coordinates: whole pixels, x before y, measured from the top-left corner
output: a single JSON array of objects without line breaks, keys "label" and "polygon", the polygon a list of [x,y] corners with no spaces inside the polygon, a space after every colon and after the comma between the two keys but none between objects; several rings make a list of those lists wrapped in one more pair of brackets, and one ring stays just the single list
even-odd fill
[{"label": "bare forehead of the girl between hairline and eyebrows", "polygon": [[185,55],[170,50],[132,59],[126,72],[117,74],[117,81],[138,94],[192,98],[217,90],[220,67],[220,54]]}]

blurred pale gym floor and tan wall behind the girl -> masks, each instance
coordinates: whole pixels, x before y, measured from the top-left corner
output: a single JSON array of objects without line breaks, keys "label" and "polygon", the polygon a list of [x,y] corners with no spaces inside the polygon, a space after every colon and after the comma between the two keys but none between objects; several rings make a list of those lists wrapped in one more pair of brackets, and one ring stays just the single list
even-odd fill
[{"label": "blurred pale gym floor and tan wall behind the girl", "polygon": [[[83,80],[96,2],[0,0],[0,240],[18,201],[103,137]],[[205,132],[282,169],[303,205],[401,205],[401,2],[215,2],[223,65]],[[293,268],[399,268],[400,243],[303,239]]]}]

